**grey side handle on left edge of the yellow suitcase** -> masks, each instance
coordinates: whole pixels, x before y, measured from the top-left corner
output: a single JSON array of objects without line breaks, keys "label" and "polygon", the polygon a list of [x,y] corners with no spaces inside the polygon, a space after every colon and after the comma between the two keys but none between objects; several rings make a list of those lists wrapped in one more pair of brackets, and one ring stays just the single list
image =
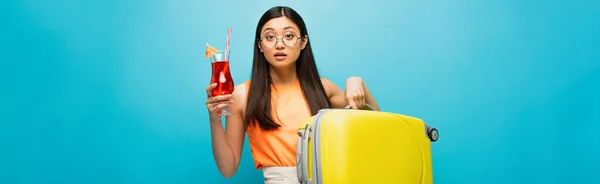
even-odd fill
[{"label": "grey side handle on left edge of the yellow suitcase", "polygon": [[298,143],[296,145],[296,172],[298,182],[310,183],[308,178],[308,158],[302,158],[302,155],[308,156],[308,139],[310,137],[310,124],[306,124],[304,129],[298,130]]}]

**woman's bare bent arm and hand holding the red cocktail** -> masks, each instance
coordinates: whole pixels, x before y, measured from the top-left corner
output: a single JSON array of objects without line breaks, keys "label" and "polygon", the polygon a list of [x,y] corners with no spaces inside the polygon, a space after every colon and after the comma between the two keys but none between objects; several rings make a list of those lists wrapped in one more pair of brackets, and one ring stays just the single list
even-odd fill
[{"label": "woman's bare bent arm and hand holding the red cocktail", "polygon": [[[225,177],[232,177],[240,165],[242,147],[244,146],[244,122],[242,109],[245,105],[244,84],[235,87],[232,95],[208,97],[207,108],[210,112],[210,131],[213,157],[219,172]],[[214,85],[207,88],[209,92]],[[209,93],[210,94],[210,93]],[[221,117],[217,115],[220,109],[228,106],[231,115],[226,117],[226,128],[223,128]]]}]

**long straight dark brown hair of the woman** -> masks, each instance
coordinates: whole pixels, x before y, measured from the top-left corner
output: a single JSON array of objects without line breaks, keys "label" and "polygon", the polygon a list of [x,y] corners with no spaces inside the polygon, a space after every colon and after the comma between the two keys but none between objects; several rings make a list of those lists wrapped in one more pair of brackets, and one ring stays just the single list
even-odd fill
[{"label": "long straight dark brown hair of the woman", "polygon": [[[253,125],[258,122],[260,128],[272,130],[280,127],[271,117],[271,85],[273,80],[269,73],[269,62],[260,52],[258,44],[260,42],[260,32],[262,27],[271,19],[285,16],[291,19],[300,29],[301,40],[308,35],[306,25],[302,17],[293,9],[285,6],[276,6],[267,10],[256,26],[256,39],[254,41],[254,61],[252,63],[252,78],[250,89],[248,91],[248,101],[246,106],[246,115],[244,117],[245,126]],[[308,39],[307,39],[308,40]],[[331,107],[312,53],[310,41],[304,49],[300,51],[300,56],[296,60],[296,75],[300,82],[300,87],[312,115],[324,108]]]}]

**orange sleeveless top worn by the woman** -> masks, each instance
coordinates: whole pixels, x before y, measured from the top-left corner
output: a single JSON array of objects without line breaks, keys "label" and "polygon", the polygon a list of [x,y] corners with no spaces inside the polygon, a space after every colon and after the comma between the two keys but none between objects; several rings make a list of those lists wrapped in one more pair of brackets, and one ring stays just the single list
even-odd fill
[{"label": "orange sleeveless top worn by the woman", "polygon": [[[246,81],[246,91],[249,87],[250,80]],[[296,166],[298,127],[311,116],[309,109],[298,80],[287,86],[271,86],[271,117],[281,127],[266,131],[251,124],[246,129],[257,169]]]}]

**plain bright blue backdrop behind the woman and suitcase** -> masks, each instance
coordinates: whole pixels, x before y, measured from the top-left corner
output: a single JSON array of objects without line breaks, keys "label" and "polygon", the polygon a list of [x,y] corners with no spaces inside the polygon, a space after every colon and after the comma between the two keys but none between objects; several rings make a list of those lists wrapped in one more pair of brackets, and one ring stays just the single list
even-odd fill
[{"label": "plain bright blue backdrop behind the woman and suitcase", "polygon": [[[236,82],[275,5],[305,19],[320,72],[364,78],[423,118],[436,183],[600,183],[600,1],[2,1],[0,183],[224,179],[205,44],[233,27]],[[399,173],[401,174],[401,173]]]}]

